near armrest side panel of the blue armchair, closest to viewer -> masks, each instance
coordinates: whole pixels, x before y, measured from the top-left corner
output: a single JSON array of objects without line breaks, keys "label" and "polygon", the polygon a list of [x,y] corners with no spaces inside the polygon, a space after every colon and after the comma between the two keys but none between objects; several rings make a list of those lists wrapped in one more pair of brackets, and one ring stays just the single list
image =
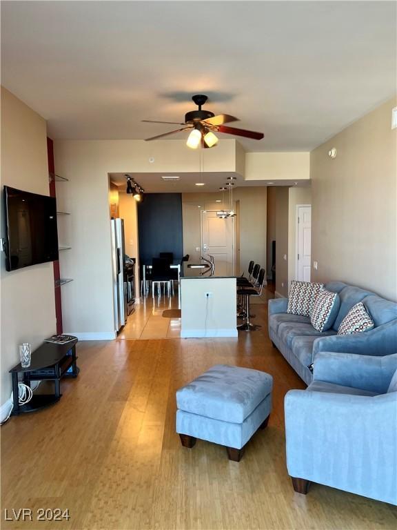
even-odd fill
[{"label": "near armrest side panel of the blue armchair, closest to viewer", "polygon": [[396,504],[396,419],[396,393],[365,397],[289,391],[289,475]]}]

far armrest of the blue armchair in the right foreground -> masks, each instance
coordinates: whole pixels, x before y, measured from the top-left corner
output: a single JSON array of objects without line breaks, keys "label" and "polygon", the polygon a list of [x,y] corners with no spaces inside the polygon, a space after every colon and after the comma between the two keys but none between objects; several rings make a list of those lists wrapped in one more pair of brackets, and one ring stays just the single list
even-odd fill
[{"label": "far armrest of the blue armchair in the right foreground", "polygon": [[314,361],[314,380],[386,393],[397,370],[397,354],[379,357],[321,352]]}]

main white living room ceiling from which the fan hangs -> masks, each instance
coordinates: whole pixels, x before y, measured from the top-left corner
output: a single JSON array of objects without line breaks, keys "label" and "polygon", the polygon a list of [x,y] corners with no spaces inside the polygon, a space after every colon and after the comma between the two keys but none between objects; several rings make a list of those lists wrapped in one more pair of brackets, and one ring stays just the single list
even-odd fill
[{"label": "main white living room ceiling from which the fan hangs", "polygon": [[1,43],[53,138],[160,134],[205,93],[247,150],[311,150],[396,90],[393,1],[2,1]]}]

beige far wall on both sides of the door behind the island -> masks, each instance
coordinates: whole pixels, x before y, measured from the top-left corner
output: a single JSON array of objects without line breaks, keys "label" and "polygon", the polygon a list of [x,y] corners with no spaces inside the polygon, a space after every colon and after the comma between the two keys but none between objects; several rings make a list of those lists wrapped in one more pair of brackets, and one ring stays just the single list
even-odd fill
[{"label": "beige far wall on both sides of the door behind the island", "polygon": [[[234,190],[234,200],[238,202],[239,215],[236,224],[240,229],[240,271],[247,271],[248,263],[254,259],[261,266],[266,266],[266,192],[267,188],[238,187]],[[200,246],[200,210],[198,205],[207,210],[218,210],[221,204],[220,193],[183,193],[183,253],[199,257],[195,247]],[[225,195],[227,203],[227,195]]]}]

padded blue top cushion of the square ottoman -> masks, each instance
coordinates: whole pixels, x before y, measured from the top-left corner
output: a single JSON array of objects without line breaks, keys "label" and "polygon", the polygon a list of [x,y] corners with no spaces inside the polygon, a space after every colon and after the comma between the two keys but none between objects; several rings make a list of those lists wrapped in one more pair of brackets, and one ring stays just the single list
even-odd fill
[{"label": "padded blue top cushion of the square ottoman", "polygon": [[216,364],[176,391],[178,409],[214,420],[243,423],[272,391],[268,373]]}]

